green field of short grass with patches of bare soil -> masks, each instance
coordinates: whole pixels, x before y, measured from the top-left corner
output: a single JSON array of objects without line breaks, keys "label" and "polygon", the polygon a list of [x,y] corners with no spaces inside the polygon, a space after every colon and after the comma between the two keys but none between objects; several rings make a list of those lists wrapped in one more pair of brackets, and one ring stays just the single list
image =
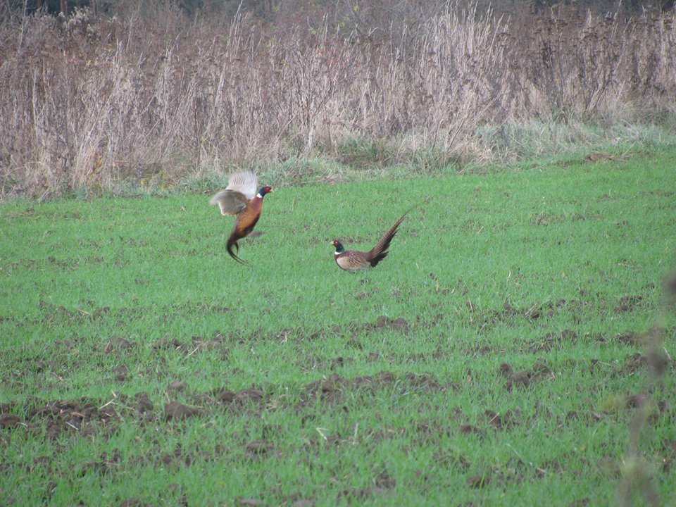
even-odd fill
[{"label": "green field of short grass with patches of bare soil", "polygon": [[674,150],[282,187],[251,267],[206,194],[2,204],[0,504],[674,505],[675,191]]}]

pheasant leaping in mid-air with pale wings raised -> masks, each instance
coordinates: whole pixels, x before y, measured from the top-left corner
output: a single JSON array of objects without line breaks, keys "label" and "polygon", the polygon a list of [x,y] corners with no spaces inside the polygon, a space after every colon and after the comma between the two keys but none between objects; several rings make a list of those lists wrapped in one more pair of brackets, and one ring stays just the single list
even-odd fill
[{"label": "pheasant leaping in mid-air with pale wings raised", "polygon": [[[242,261],[237,256],[237,253],[239,253],[237,242],[251,234],[258,218],[261,218],[263,197],[273,191],[270,187],[261,187],[256,193],[257,187],[258,178],[251,171],[235,173],[227,179],[225,190],[215,194],[209,201],[209,204],[218,204],[222,215],[237,216],[230,237],[227,239],[226,248],[230,257],[244,265],[246,265],[246,261]],[[232,251],[233,246],[237,253]]]}]

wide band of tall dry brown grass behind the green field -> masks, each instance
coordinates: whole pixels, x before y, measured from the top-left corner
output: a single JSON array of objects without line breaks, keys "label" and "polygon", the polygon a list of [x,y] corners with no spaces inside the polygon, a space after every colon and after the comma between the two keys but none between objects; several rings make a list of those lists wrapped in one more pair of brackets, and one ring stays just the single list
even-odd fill
[{"label": "wide band of tall dry brown grass behind the green field", "polygon": [[113,18],[7,17],[1,194],[340,158],[349,139],[393,145],[388,162],[430,150],[444,163],[491,149],[481,125],[676,112],[670,13],[622,20],[560,7],[501,18],[477,4],[379,4],[380,17],[368,2],[272,20],[188,18],[158,2]]}]

